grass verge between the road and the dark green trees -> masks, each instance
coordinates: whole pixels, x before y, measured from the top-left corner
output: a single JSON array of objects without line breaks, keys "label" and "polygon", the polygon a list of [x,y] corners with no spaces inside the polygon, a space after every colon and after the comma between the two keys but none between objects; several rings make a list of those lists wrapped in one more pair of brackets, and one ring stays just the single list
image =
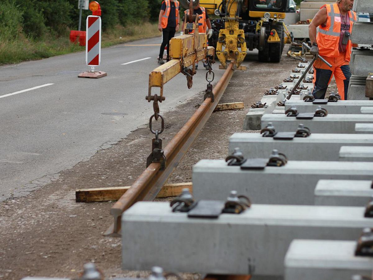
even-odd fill
[{"label": "grass verge between the road and the dark green trees", "polygon": [[[128,27],[118,25],[102,33],[101,47],[160,36],[161,33],[157,26],[157,24],[149,22]],[[68,32],[65,37],[51,38],[45,35],[38,40],[26,38],[22,34],[19,34],[15,39],[9,39],[7,34],[0,35],[0,65],[65,55],[83,50],[85,50],[85,47],[70,42]]]}]

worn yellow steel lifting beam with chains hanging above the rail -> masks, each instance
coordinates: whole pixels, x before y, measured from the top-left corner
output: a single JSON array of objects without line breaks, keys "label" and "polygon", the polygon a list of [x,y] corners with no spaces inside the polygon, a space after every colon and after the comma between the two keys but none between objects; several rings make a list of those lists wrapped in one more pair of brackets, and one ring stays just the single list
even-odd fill
[{"label": "worn yellow steel lifting beam with chains hanging above the rail", "polygon": [[[174,37],[170,41],[170,61],[157,67],[149,74],[149,91],[146,99],[152,99],[151,88],[159,87],[159,101],[164,100],[163,85],[173,77],[182,73],[186,76],[188,88],[192,87],[192,77],[196,74],[195,63],[209,58],[214,59],[214,47],[207,47],[207,35],[198,33],[198,18],[192,24],[188,23],[189,29],[194,29],[194,34],[185,34]],[[189,66],[192,66],[191,68]]]}]

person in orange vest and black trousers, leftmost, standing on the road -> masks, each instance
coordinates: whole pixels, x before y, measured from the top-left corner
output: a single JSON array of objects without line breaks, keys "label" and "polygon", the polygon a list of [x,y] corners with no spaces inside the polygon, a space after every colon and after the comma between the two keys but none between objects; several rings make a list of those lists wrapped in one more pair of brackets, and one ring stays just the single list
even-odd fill
[{"label": "person in orange vest and black trousers, leftmost, standing on the road", "polygon": [[162,32],[162,44],[159,51],[158,64],[164,64],[163,52],[167,45],[167,61],[170,59],[170,40],[179,31],[179,2],[177,0],[164,0],[159,12],[158,30]]}]

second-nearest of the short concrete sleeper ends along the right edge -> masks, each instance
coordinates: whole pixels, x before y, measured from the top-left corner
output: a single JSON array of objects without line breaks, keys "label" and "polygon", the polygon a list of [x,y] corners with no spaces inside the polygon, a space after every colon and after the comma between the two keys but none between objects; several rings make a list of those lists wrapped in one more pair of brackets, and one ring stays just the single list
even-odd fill
[{"label": "second-nearest of the short concrete sleeper ends along the right edge", "polygon": [[372,196],[372,180],[319,180],[315,205],[365,206]]}]

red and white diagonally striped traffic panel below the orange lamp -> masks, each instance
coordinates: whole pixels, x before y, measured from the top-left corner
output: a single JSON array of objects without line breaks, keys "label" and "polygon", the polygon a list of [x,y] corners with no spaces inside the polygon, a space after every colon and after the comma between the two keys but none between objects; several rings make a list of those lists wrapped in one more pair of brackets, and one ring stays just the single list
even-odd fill
[{"label": "red and white diagonally striped traffic panel below the orange lamp", "polygon": [[87,17],[85,39],[85,62],[88,66],[98,66],[101,62],[101,17]]}]

